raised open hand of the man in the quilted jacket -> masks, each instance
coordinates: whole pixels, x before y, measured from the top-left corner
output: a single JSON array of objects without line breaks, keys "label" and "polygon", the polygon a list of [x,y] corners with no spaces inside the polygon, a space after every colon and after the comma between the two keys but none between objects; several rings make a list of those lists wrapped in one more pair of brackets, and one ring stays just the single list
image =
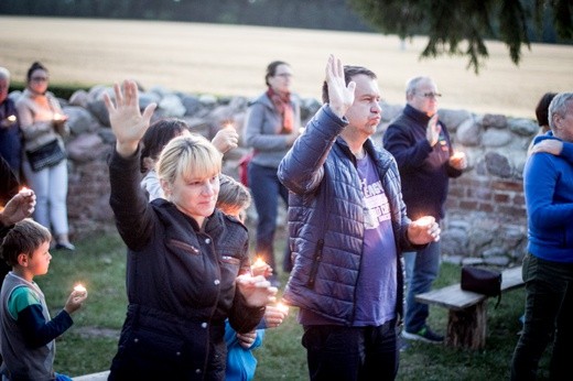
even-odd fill
[{"label": "raised open hand of the man in the quilted jacket", "polygon": [[326,84],[328,85],[328,105],[331,110],[339,118],[343,118],[354,104],[356,84],[350,81],[348,86],[346,85],[343,63],[332,54],[326,64]]}]

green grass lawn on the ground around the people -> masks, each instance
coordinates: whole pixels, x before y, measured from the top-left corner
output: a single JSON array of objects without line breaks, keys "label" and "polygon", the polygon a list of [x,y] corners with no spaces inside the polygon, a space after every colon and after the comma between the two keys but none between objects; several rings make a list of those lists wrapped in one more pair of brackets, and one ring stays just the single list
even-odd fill
[{"label": "green grass lawn on the ground around the people", "polygon": [[[51,313],[62,308],[74,284],[88,290],[85,306],[73,315],[74,326],[57,340],[55,369],[75,377],[109,369],[116,353],[119,329],[126,313],[125,246],[117,233],[98,235],[75,242],[76,253],[53,251],[50,273],[36,281],[44,291]],[[279,251],[279,250],[278,250]],[[460,268],[444,263],[435,285],[458,282]],[[286,277],[281,274],[284,284]],[[523,290],[505,293],[496,309],[488,303],[488,336],[480,351],[426,344],[412,344],[400,353],[398,380],[507,380],[509,363],[520,329]],[[275,329],[266,333],[255,351],[259,364],[256,380],[306,380],[306,352],[295,309]],[[430,325],[444,333],[447,312],[432,307]],[[549,353],[540,363],[540,379],[548,378]]]}]

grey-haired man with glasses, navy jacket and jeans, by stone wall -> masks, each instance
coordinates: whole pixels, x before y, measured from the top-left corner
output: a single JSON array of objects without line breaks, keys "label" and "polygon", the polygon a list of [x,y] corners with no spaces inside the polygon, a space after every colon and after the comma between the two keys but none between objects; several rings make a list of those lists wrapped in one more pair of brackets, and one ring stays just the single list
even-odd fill
[{"label": "grey-haired man with glasses, navy jacket and jeans, by stone wall", "polygon": [[[415,77],[407,83],[403,111],[383,134],[383,148],[394,156],[402,181],[402,196],[408,217],[444,217],[450,177],[458,177],[466,167],[463,155],[454,150],[444,123],[439,120],[435,83]],[[444,337],[426,324],[429,306],[418,303],[415,295],[428,292],[440,270],[440,242],[419,251],[404,252],[406,315],[402,337],[439,344]]]}]

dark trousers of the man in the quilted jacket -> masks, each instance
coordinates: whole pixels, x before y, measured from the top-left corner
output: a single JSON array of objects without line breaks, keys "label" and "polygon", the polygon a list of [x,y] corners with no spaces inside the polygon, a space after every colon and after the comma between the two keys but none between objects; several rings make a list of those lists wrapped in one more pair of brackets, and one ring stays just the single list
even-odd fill
[{"label": "dark trousers of the man in the quilted jacket", "polygon": [[310,380],[393,380],[397,333],[396,319],[378,327],[304,326]]}]

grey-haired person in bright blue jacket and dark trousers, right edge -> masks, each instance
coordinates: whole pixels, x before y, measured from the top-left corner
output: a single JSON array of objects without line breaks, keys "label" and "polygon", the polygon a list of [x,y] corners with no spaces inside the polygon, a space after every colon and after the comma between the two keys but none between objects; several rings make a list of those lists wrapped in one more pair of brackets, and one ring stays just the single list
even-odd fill
[{"label": "grey-haired person in bright blue jacket and dark trousers, right edge", "polygon": [[550,379],[571,378],[573,92],[553,98],[549,126],[551,131],[536,138],[523,170],[529,238],[522,270],[526,319],[513,352],[511,380],[536,379],[539,359],[552,338]]}]

